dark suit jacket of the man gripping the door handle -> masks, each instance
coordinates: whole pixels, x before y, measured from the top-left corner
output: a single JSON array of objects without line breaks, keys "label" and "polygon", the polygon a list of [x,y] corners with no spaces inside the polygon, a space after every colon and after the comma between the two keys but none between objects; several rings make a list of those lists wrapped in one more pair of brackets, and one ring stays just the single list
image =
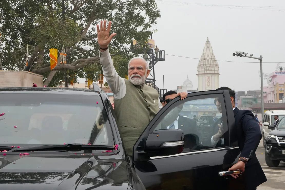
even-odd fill
[{"label": "dark suit jacket of the man gripping the door handle", "polygon": [[234,109],[235,130],[237,142],[241,152],[240,157],[249,158],[245,165],[245,184],[247,189],[254,189],[267,181],[264,172],[257,160],[255,151],[262,138],[260,127],[249,110]]}]

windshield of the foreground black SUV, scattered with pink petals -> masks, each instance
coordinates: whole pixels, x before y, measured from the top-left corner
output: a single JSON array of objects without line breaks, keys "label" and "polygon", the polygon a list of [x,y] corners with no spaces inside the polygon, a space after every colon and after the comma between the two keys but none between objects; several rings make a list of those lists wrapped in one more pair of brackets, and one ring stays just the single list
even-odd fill
[{"label": "windshield of the foreground black SUV, scattered with pink petals", "polygon": [[113,135],[100,96],[2,93],[0,146],[110,145]]}]

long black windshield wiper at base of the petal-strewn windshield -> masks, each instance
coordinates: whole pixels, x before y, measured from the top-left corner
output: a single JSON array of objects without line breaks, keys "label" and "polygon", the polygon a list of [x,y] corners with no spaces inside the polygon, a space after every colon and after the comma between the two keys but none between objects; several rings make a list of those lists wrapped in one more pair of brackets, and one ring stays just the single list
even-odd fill
[{"label": "long black windshield wiper at base of the petal-strewn windshield", "polygon": [[[11,149],[11,147],[9,147]],[[42,146],[32,146],[23,148],[13,148],[8,152],[21,152],[21,151],[40,151],[40,150],[113,150],[113,146],[105,145],[87,145],[87,144],[59,144],[59,145],[42,145]]]}]

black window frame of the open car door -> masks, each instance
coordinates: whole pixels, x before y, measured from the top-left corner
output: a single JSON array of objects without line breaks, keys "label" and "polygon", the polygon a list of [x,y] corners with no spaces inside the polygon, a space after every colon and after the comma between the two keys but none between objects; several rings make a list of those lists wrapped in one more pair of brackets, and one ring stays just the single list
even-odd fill
[{"label": "black window frame of the open car door", "polygon": [[[190,151],[190,152],[183,152],[180,154],[175,154],[175,155],[169,155],[169,156],[180,156],[181,154],[194,154],[194,153],[199,153],[199,152],[210,152],[210,151],[217,151],[221,149],[228,149],[230,147],[236,147],[237,146],[237,139],[233,136],[233,132],[231,130],[234,130],[234,114],[233,114],[233,107],[231,105],[230,100],[230,95],[229,91],[202,91],[202,92],[195,92],[195,93],[189,93],[187,95],[188,101],[194,100],[194,99],[204,99],[204,98],[213,98],[213,97],[222,97],[224,101],[224,105],[222,106],[222,113],[223,113],[223,122],[224,126],[227,127],[227,130],[229,131],[229,139],[228,139],[228,144],[229,146],[225,147],[219,147],[219,148],[211,148],[211,149],[205,149],[205,150],[196,150],[196,151]],[[135,146],[133,148],[133,158],[134,162],[140,161],[141,159],[146,159],[146,157],[149,158],[148,153],[144,152],[144,144],[146,142],[146,139],[148,135],[153,131],[153,128],[156,128],[156,126],[162,121],[162,119],[172,110],[169,108],[170,107],[176,107],[179,105],[181,102],[180,97],[176,97],[172,101],[166,104],[165,107],[163,107],[157,115],[150,121],[148,126],[145,128],[141,136],[138,138],[137,142],[135,143]],[[185,100],[184,100],[185,101]],[[169,111],[168,111],[169,110]],[[169,157],[167,156],[167,157]],[[164,156],[160,156],[164,157]],[[153,158],[153,157],[152,157]]]}]

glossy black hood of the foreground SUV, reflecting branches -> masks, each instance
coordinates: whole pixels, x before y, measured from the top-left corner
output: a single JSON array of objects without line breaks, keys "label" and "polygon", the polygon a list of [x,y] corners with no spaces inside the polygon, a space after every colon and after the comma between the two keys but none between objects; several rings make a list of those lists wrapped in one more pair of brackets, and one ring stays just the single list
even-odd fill
[{"label": "glossy black hood of the foreground SUV, reflecting branches", "polygon": [[0,155],[0,189],[127,189],[128,168],[119,155],[7,152]]}]

